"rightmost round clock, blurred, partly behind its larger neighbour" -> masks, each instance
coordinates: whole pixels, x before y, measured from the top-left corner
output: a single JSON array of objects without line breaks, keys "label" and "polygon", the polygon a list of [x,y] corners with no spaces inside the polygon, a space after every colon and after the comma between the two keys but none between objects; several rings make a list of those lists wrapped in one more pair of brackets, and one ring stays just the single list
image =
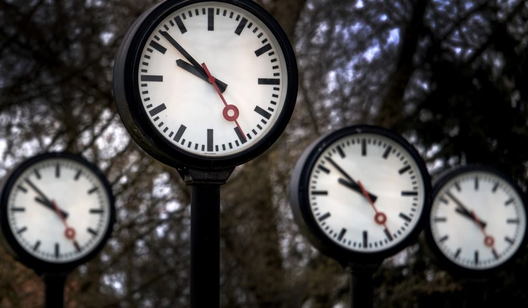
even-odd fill
[{"label": "rightmost round clock, blurred, partly behind its larger neighbour", "polygon": [[502,268],[525,246],[523,193],[490,167],[450,171],[435,184],[426,237],[440,262],[456,273]]}]

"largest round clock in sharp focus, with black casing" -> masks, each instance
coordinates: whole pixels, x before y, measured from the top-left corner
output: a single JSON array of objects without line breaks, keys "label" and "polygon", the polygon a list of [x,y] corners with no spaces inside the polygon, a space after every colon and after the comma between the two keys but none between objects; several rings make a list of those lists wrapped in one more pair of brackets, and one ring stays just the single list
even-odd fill
[{"label": "largest round clock in sharp focus, with black casing", "polygon": [[227,168],[261,154],[285,129],[297,64],[274,18],[252,1],[163,1],[119,48],[119,115],[165,164]]}]

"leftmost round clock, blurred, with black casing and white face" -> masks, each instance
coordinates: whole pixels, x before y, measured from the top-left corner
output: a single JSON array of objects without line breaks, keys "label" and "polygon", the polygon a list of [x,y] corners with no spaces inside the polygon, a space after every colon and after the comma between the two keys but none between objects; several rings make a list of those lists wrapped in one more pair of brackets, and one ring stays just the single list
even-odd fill
[{"label": "leftmost round clock, blurred, with black casing and white face", "polygon": [[0,195],[2,235],[36,270],[68,270],[95,256],[114,225],[114,197],[96,166],[70,153],[45,153],[9,174]]}]

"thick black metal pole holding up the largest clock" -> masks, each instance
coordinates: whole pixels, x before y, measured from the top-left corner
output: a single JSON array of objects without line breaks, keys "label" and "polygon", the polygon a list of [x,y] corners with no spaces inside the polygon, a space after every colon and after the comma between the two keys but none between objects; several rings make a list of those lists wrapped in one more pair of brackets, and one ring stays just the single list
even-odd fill
[{"label": "thick black metal pole holding up the largest clock", "polygon": [[191,307],[220,305],[220,185],[191,185]]}]

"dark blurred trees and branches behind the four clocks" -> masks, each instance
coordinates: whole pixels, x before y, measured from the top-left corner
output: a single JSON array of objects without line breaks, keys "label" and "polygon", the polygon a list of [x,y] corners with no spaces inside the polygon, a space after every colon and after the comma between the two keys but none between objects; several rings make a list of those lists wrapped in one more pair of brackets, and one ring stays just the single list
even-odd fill
[{"label": "dark blurred trees and branches behind the four clocks", "polygon": [[[0,0],[0,176],[34,154],[68,150],[98,164],[117,197],[113,237],[69,276],[71,307],[188,306],[188,188],[130,140],[112,95],[117,47],[155,2]],[[526,190],[528,1],[259,3],[294,45],[299,95],[279,142],[222,188],[223,307],[348,301],[347,276],[299,235],[288,204],[297,158],[331,130],[388,127],[418,148],[433,178],[485,163]],[[527,306],[527,272],[523,254],[478,297]],[[374,285],[378,307],[457,307],[466,297],[421,242],[386,260]],[[0,306],[39,306],[42,287],[0,251]]]}]

